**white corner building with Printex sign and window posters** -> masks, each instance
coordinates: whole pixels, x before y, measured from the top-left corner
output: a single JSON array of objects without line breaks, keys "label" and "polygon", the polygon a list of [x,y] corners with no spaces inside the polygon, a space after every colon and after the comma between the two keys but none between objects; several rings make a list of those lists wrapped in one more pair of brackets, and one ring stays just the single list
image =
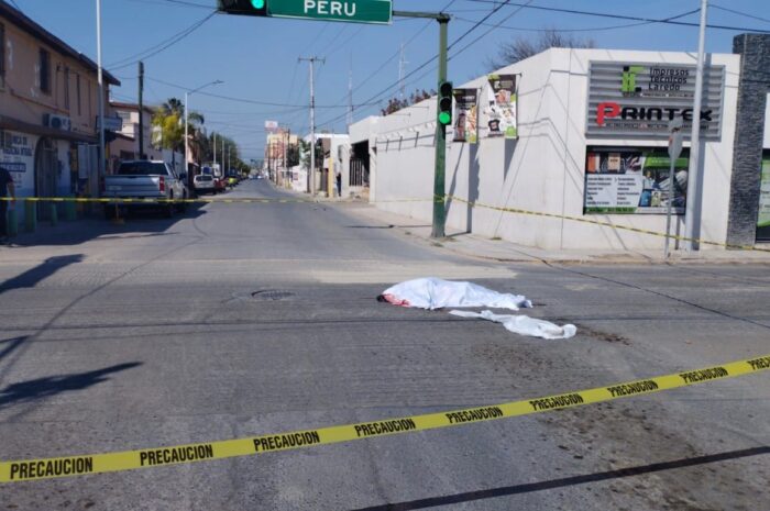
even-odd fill
[{"label": "white corner building with Printex sign and window posters", "polygon": [[[736,41],[739,37],[744,36]],[[747,37],[752,42],[767,36]],[[748,52],[756,47],[761,45]],[[669,116],[682,115],[692,104],[694,67],[695,55],[689,53],[564,48],[540,53],[497,71],[515,77],[516,138],[488,137],[493,118],[488,100],[494,101],[488,77],[455,84],[455,88],[479,91],[481,113],[477,144],[453,143],[453,130],[448,129],[446,193],[457,198],[448,201],[448,225],[550,249],[662,248],[663,237],[618,226],[666,232],[667,125]],[[707,68],[696,236],[736,243],[748,236],[746,219],[743,226],[736,219],[754,215],[749,221],[756,231],[760,202],[762,149],[740,149],[736,144],[736,127],[747,125],[738,122],[738,96],[749,90],[752,80],[741,79],[747,74],[738,54],[708,55]],[[765,98],[751,93],[755,99]],[[370,200],[378,208],[431,220],[436,118],[436,100],[429,100],[398,115],[367,118],[350,127],[352,153],[367,159]],[[686,112],[684,119],[686,124]],[[765,131],[766,148],[770,148],[769,131]],[[686,158],[689,134],[684,146]],[[734,162],[735,154],[750,154],[749,169],[756,169],[748,202],[732,192],[747,175],[746,165]],[[734,173],[740,165],[740,173]],[[676,163],[673,205],[681,214],[675,216],[673,232],[678,234],[684,234],[686,166],[688,159]],[[754,174],[748,175],[752,180]],[[767,180],[770,187],[770,169]],[[765,198],[770,212],[770,189]]]}]

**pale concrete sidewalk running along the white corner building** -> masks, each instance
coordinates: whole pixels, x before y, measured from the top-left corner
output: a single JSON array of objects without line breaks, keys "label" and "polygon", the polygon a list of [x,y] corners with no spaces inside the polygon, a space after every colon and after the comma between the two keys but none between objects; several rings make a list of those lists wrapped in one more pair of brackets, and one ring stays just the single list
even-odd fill
[{"label": "pale concrete sidewalk running along the white corner building", "polygon": [[[336,201],[337,202],[337,201]],[[369,221],[384,224],[402,235],[414,236],[431,246],[442,247],[455,254],[476,257],[501,263],[554,263],[554,264],[660,264],[663,251],[549,251],[504,240],[491,240],[476,234],[469,234],[447,226],[447,237],[433,240],[430,237],[430,222],[424,222],[409,216],[391,213],[377,209],[373,204],[360,201],[346,202],[344,210],[363,216]],[[342,204],[341,204],[342,205]],[[686,254],[672,251],[668,259],[670,264],[768,264],[769,252],[762,251],[725,251],[706,248]]]}]

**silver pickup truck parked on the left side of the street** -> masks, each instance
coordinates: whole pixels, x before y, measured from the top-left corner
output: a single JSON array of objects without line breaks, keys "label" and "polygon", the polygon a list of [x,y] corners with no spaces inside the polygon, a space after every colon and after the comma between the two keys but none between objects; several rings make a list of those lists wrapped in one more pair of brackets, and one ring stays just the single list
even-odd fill
[{"label": "silver pickup truck parked on the left side of the street", "polygon": [[105,203],[105,216],[112,218],[116,208],[142,207],[161,209],[167,218],[174,210],[183,211],[185,202],[165,202],[165,200],[187,199],[187,176],[177,174],[165,162],[132,160],[121,162],[116,174],[105,176],[102,197],[105,199],[154,199],[164,202],[127,204],[122,201]]}]

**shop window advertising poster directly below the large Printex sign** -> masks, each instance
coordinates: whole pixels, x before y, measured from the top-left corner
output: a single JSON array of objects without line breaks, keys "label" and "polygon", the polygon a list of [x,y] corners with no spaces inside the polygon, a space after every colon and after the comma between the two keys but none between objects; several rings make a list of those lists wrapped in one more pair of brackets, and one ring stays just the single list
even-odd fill
[{"label": "shop window advertising poster directly below the large Printex sign", "polygon": [[674,195],[669,197],[671,159],[661,148],[592,148],[585,163],[585,213],[684,214],[689,151],[674,163]]}]

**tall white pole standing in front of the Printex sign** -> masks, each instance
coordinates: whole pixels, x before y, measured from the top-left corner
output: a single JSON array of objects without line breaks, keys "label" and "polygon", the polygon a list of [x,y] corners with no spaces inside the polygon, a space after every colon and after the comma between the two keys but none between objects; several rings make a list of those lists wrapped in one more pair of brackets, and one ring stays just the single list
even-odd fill
[{"label": "tall white pole standing in front of the Printex sign", "polygon": [[[690,169],[688,173],[688,207],[684,215],[684,236],[695,237],[695,204],[701,196],[698,166],[701,164],[701,105],[703,103],[703,63],[706,45],[706,14],[708,0],[701,0],[701,30],[697,42],[697,70],[695,71],[695,101],[693,105],[693,127],[690,137]],[[696,249],[695,243],[688,240],[684,243],[686,252]]]}]

